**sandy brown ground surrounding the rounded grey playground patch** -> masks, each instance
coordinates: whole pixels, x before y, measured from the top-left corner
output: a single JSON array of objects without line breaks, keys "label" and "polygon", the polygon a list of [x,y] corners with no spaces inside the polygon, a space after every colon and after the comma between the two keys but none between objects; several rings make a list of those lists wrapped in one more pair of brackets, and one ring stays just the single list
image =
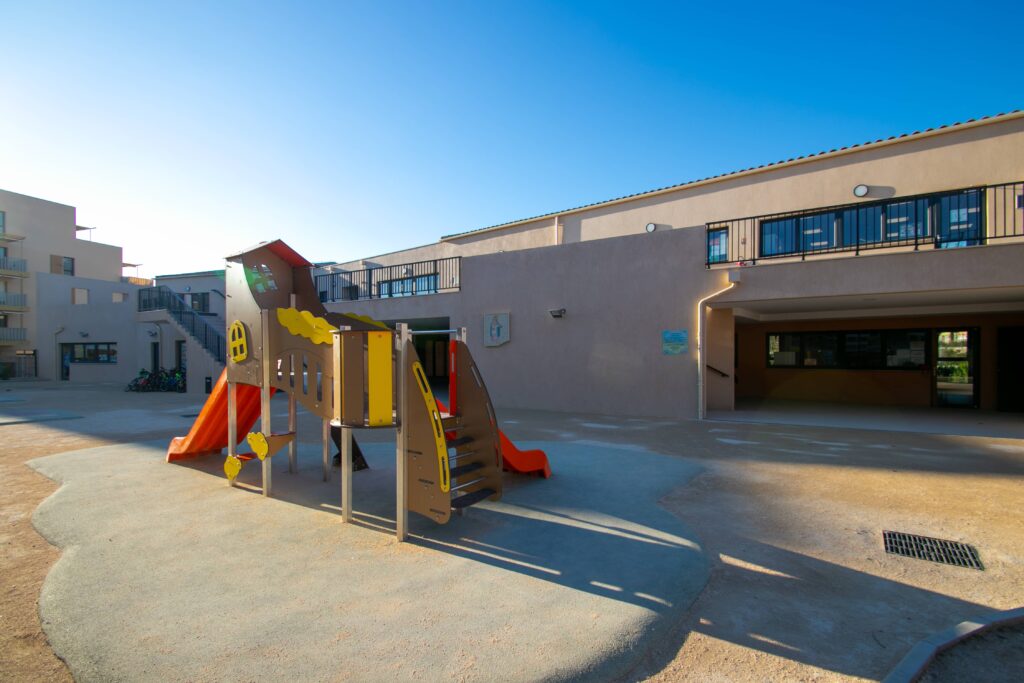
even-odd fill
[{"label": "sandy brown ground surrounding the rounded grey playground patch", "polygon": [[[37,602],[59,553],[31,520],[56,484],[25,462],[183,433],[191,420],[182,416],[199,403],[115,387],[9,386],[0,394],[0,415],[16,418],[0,423],[0,679],[69,680]],[[30,409],[47,421],[31,422]],[[624,680],[878,680],[932,633],[1021,606],[1024,441],[526,411],[500,418],[513,438],[641,445],[703,468],[662,505],[695,529],[710,580]],[[970,543],[985,571],[887,555],[883,529]],[[1019,630],[1000,633],[979,646],[997,656],[958,646],[944,658],[974,656],[976,673],[1001,658],[1019,671],[1024,663],[1005,645]],[[930,680],[967,680],[942,676]]]}]

